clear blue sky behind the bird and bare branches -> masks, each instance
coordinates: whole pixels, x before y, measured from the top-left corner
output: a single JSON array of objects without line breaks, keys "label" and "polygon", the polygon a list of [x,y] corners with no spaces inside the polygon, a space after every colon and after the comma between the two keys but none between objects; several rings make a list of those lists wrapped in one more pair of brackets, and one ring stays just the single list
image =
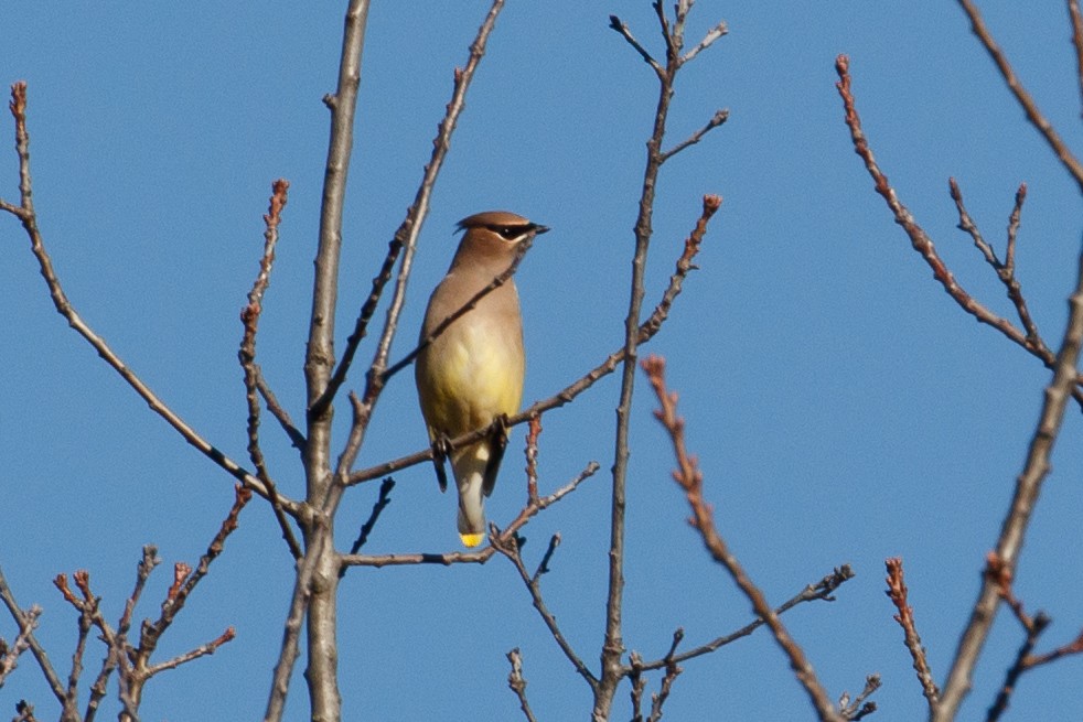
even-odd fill
[{"label": "clear blue sky behind the bird and bare branches", "polygon": [[[19,3],[0,26],[4,85],[30,84],[35,202],[65,289],[87,322],[185,420],[238,460],[245,401],[237,314],[256,272],[272,180],[291,183],[259,358],[303,417],[305,324],[341,3]],[[344,219],[340,348],[428,159],[452,68],[486,2],[374,3]],[[1074,148],[1083,147],[1066,13],[986,3],[1020,77]],[[644,142],[655,79],[608,28],[619,14],[658,52],[650,3],[510,2],[467,100],[421,234],[401,336],[407,353],[425,299],[457,243],[454,223],[507,208],[551,226],[518,274],[528,351],[525,399],[545,398],[620,345]],[[699,455],[722,535],[781,603],[833,567],[857,578],[833,604],[785,621],[833,696],[867,673],[884,686],[877,718],[915,719],[924,700],[883,595],[883,559],[905,561],[930,664],[943,679],[973,604],[985,551],[1022,465],[1049,374],[942,292],[909,248],[854,155],[834,88],[835,56],[878,160],[902,201],[975,297],[1004,315],[999,282],[954,228],[947,177],[1002,248],[1018,184],[1029,196],[1018,277],[1048,343],[1059,344],[1080,245],[1079,196],[1029,127],[951,2],[840,1],[766,8],[701,0],[687,37],[725,19],[730,34],[677,82],[671,140],[718,108],[729,121],[663,170],[646,302],[653,304],[699,213],[725,197],[672,319],[645,349],[667,357],[688,445]],[[0,195],[14,200],[11,123],[0,122]],[[1075,208],[1073,212],[1072,208]],[[1075,219],[1072,219],[1075,213]],[[55,314],[14,219],[0,219],[0,565],[23,605],[45,607],[39,637],[66,668],[74,612],[56,573],[88,569],[119,616],[143,543],[194,562],[232,500],[232,482],[100,363]],[[372,357],[371,346],[358,358]],[[392,384],[358,464],[421,449],[409,374]],[[352,379],[354,388],[360,375]],[[566,635],[597,665],[603,633],[608,468],[614,378],[547,414],[540,486],[588,461],[602,471],[537,518],[536,562],[564,543],[545,578]],[[742,626],[750,606],[706,557],[669,479],[672,453],[641,378],[629,481],[625,643],[664,654],[683,626],[691,645]],[[339,420],[349,417],[340,407]],[[1016,591],[1054,619],[1040,645],[1080,625],[1080,411],[1070,408],[1028,537]],[[345,427],[341,427],[340,443]],[[522,429],[487,505],[504,524],[524,498]],[[301,470],[271,422],[265,450],[282,489]],[[454,549],[454,503],[428,466],[407,470],[368,548]],[[343,543],[376,485],[351,494]],[[142,608],[157,612],[160,569]],[[217,636],[212,658],[151,682],[143,719],[250,719],[262,713],[291,585],[269,509],[254,503],[161,658]],[[354,570],[340,601],[346,719],[517,719],[506,689],[523,650],[539,719],[583,719],[587,687],[530,607],[512,567]],[[0,636],[11,638],[0,622]],[[963,716],[984,714],[1021,642],[1001,615]],[[100,648],[87,665],[95,669]],[[1080,659],[1023,678],[1016,719],[1079,714]],[[54,716],[31,660],[0,690],[0,711],[36,702]],[[656,690],[656,679],[648,690]],[[303,680],[290,716],[304,714]],[[623,688],[614,719],[629,716]],[[808,719],[803,692],[764,634],[685,666],[672,719]]]}]

